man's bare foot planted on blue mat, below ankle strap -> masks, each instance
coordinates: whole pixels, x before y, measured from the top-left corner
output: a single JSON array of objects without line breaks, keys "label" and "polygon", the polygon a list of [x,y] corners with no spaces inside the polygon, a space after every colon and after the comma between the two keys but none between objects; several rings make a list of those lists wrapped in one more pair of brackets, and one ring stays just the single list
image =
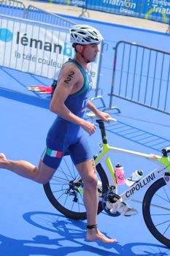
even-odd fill
[{"label": "man's bare foot planted on blue mat, below ankle strap", "polygon": [[87,240],[88,241],[101,241],[104,244],[112,244],[117,242],[116,239],[107,238],[98,229],[87,230]]}]

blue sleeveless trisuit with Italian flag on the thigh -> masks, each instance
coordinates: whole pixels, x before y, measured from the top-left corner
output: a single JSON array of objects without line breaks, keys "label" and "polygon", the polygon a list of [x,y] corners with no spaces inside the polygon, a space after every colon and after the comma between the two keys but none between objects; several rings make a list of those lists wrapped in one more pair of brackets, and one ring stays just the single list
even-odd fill
[{"label": "blue sleeveless trisuit with Italian flag on the thigh", "polygon": [[[74,115],[82,118],[87,106],[89,91],[92,89],[92,80],[90,72],[85,72],[77,61],[70,59],[68,62],[77,65],[84,78],[84,83],[79,91],[67,97],[64,104]],[[82,127],[66,121],[60,116],[55,118],[47,133],[46,145],[47,147],[42,154],[42,162],[55,169],[58,168],[62,157],[67,151],[69,151],[74,165],[85,162],[88,159],[93,159],[88,138]]]}]

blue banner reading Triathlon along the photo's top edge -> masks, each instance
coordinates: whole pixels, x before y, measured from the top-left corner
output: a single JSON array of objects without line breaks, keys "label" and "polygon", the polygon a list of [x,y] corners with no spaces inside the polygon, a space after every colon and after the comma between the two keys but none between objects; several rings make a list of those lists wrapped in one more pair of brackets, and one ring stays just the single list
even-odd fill
[{"label": "blue banner reading Triathlon along the photo's top edge", "polygon": [[97,10],[117,15],[129,15],[162,23],[170,22],[169,0],[41,0],[69,4],[86,10]]}]

